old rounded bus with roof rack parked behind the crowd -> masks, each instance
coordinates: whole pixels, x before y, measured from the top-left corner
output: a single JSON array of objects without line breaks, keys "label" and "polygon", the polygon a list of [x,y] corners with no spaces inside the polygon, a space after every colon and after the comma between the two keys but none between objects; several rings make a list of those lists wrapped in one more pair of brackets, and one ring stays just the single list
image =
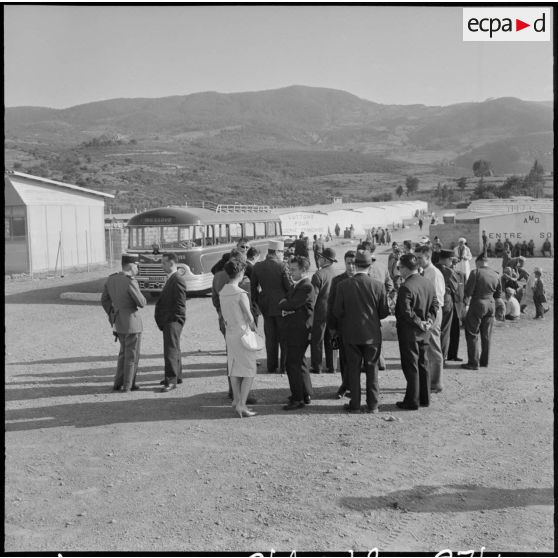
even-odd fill
[{"label": "old rounded bus with roof rack parked behind the crowd", "polygon": [[178,256],[178,273],[189,294],[211,291],[211,268],[241,238],[266,252],[268,241],[279,239],[281,219],[265,205],[163,207],[134,215],[126,225],[127,253],[138,257],[141,291],[157,296],[167,279],[161,265],[163,252]]}]

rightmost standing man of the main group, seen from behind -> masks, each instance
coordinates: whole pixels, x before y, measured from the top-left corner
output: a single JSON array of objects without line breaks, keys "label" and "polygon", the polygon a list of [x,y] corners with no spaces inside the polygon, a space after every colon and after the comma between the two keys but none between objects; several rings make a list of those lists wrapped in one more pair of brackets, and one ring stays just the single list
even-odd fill
[{"label": "rightmost standing man of the main group, seen from behind", "polygon": [[488,366],[495,299],[502,298],[500,276],[488,267],[488,258],[481,253],[480,256],[477,256],[475,263],[477,269],[469,274],[465,285],[467,314],[464,326],[468,359],[466,364],[461,365],[461,368],[466,370],[478,370],[479,365]]}]

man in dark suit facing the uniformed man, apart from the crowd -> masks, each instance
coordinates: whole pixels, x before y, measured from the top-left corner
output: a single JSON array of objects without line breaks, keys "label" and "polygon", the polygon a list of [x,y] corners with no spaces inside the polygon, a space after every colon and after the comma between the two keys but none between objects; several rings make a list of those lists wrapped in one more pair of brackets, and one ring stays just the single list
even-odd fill
[{"label": "man in dark suit facing the uniformed man, apart from the crowd", "polygon": [[161,264],[168,278],[155,305],[155,322],[163,332],[163,392],[171,391],[176,388],[177,383],[182,383],[180,335],[186,322],[186,281],[178,271],[177,261],[175,253],[163,254]]}]

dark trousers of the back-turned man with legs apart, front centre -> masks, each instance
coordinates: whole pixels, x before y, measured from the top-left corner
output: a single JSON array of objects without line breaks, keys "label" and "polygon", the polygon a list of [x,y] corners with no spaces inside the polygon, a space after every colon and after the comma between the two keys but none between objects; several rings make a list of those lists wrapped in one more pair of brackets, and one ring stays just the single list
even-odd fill
[{"label": "dark trousers of the back-turned man with legs apart, front centre", "polygon": [[360,371],[364,367],[366,374],[366,405],[369,409],[377,409],[380,399],[378,385],[378,360],[381,345],[352,345],[345,343],[347,359],[346,377],[351,390],[351,409],[360,409]]}]

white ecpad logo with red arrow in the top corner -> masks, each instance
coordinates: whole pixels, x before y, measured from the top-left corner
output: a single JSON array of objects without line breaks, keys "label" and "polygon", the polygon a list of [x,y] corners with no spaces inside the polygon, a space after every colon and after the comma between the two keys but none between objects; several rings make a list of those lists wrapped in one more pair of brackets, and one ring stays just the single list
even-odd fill
[{"label": "white ecpad logo with red arrow in the top corner", "polygon": [[463,8],[464,41],[550,41],[550,8]]}]

